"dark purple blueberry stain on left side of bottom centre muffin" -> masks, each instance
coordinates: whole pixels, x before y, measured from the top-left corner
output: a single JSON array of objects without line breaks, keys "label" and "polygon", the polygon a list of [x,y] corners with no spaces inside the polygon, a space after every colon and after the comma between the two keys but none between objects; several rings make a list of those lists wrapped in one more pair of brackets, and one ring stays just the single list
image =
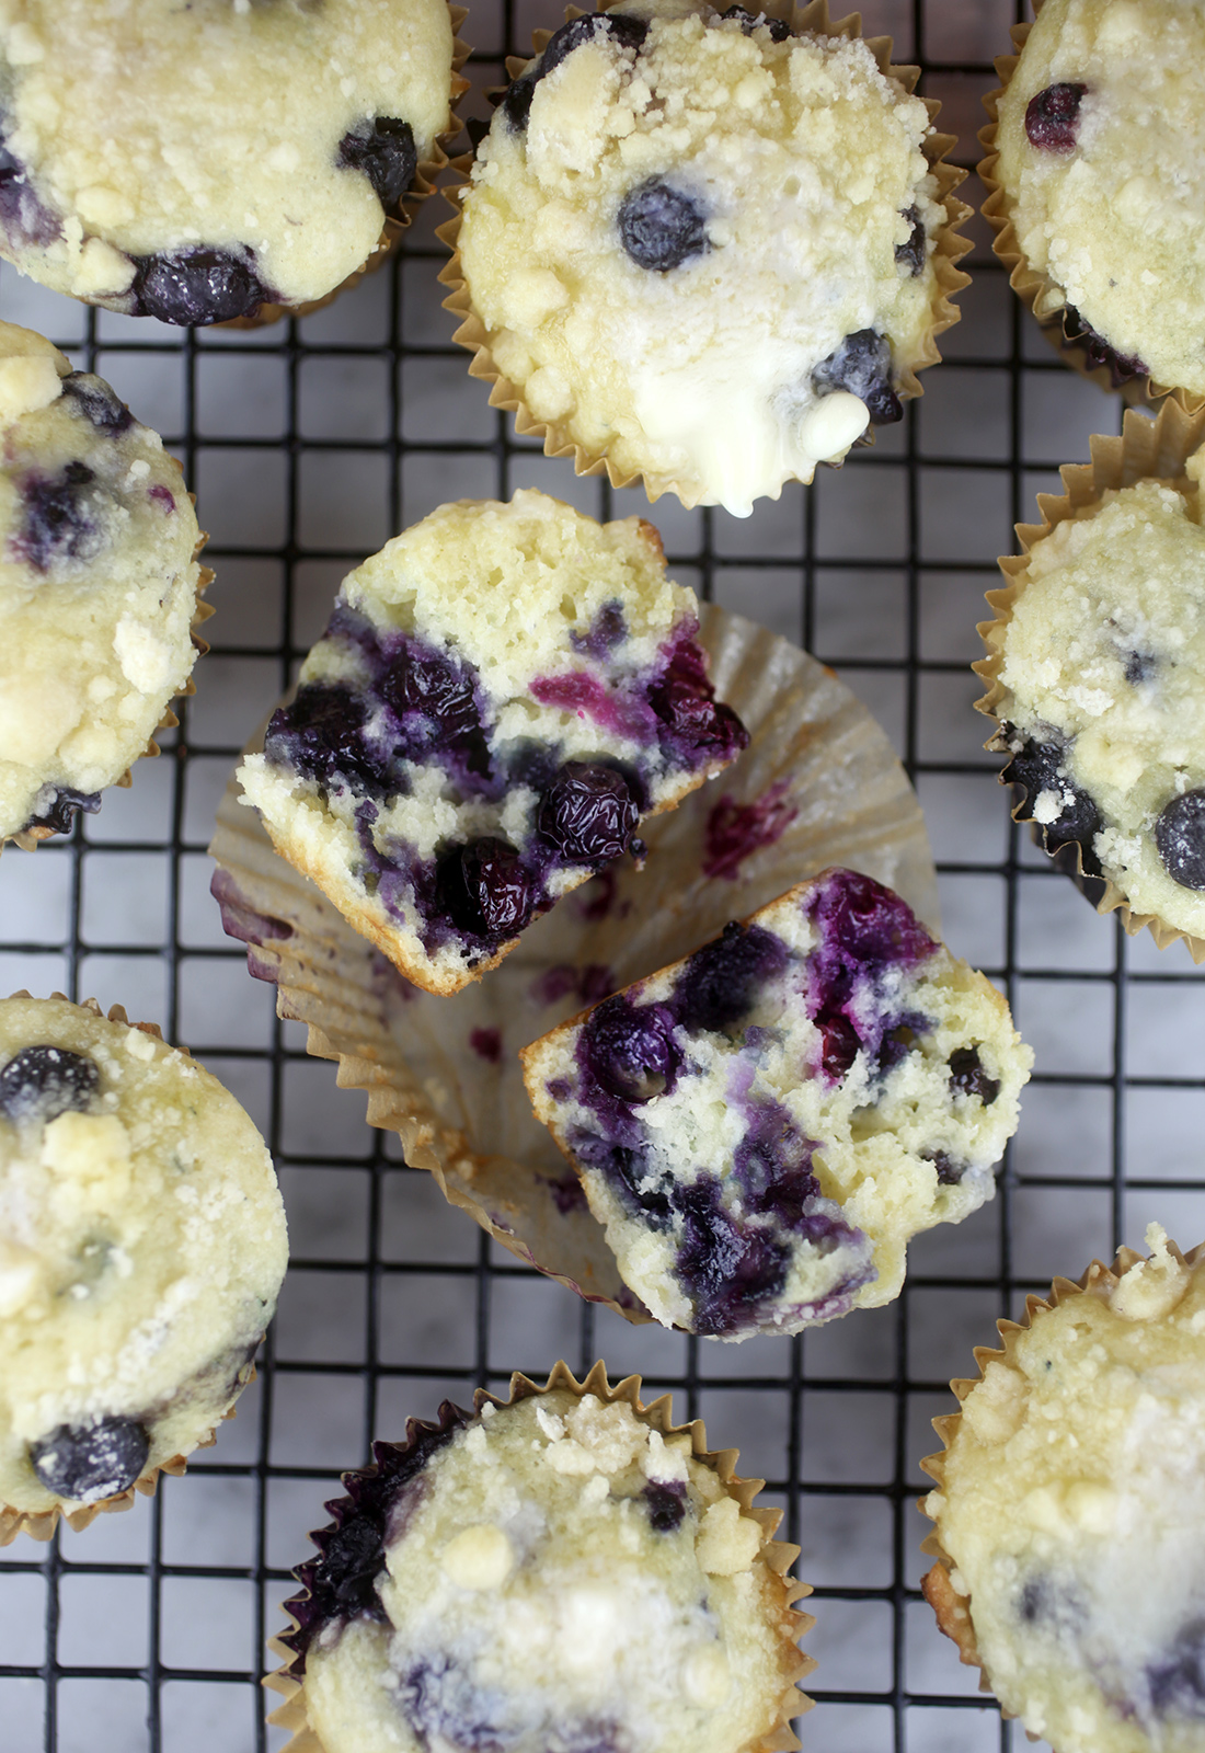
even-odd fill
[{"label": "dark purple blueberry stain on left side of bottom centre muffin", "polygon": [[287,1602],[298,1625],[282,1639],[298,1657],[294,1672],[305,1671],[305,1655],[326,1625],[361,1616],[385,1618],[377,1578],[385,1567],[385,1539],[394,1508],[431,1457],[469,1422],[468,1413],[445,1401],[438,1425],[412,1418],[405,1444],[377,1443],[375,1467],[347,1474],[347,1501],[328,1504],[335,1522],[314,1536],[319,1557],[294,1571],[305,1593]]}]

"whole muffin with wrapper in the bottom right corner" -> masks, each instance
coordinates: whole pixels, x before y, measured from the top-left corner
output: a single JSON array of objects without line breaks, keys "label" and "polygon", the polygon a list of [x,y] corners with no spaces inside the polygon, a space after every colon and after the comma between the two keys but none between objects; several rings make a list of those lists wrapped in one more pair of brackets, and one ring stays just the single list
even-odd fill
[{"label": "whole muffin with wrapper in the bottom right corner", "polygon": [[1056,1753],[1205,1744],[1205,1260],[1152,1224],[976,1352],[925,1462],[925,1593]]}]

